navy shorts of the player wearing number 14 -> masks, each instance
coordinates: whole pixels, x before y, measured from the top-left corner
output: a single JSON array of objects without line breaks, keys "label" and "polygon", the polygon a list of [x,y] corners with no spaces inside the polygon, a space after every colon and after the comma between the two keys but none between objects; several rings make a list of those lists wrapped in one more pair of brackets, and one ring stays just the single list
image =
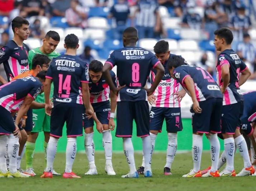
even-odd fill
[{"label": "navy shorts of the player wearing number 14", "polygon": [[67,137],[77,137],[83,134],[82,112],[84,105],[76,103],[53,102],[50,135],[62,137],[62,129],[66,122]]}]

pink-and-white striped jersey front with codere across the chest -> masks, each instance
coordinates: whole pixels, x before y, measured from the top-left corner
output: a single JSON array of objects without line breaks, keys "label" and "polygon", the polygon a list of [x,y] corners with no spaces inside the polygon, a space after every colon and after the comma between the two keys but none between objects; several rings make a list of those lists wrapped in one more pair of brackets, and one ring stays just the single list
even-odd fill
[{"label": "pink-and-white striped jersey front with codere across the chest", "polygon": [[[176,56],[174,54],[170,54],[170,57]],[[169,57],[169,59],[170,59]],[[165,74],[162,77],[161,82],[157,86],[153,95],[156,97],[156,101],[152,104],[153,107],[180,107],[180,101],[176,101],[174,99],[174,94],[177,91],[182,89],[182,86],[177,80],[174,80],[170,72],[167,68],[166,60],[162,63],[163,67],[165,68]],[[151,70],[151,84],[153,84],[156,77],[156,70]]]}]

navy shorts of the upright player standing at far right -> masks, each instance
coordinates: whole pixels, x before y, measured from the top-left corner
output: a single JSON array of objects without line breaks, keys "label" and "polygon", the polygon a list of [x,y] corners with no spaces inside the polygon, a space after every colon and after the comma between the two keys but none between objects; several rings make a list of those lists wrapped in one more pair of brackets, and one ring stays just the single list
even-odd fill
[{"label": "navy shorts of the upright player standing at far right", "polygon": [[243,115],[243,102],[223,105],[221,116],[221,133],[234,134],[240,128],[240,117]]}]

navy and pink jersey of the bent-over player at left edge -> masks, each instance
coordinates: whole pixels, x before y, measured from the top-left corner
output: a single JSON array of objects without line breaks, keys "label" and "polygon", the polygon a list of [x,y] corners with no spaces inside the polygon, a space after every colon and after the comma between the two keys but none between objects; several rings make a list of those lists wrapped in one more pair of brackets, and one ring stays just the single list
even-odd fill
[{"label": "navy and pink jersey of the bent-over player at left edge", "polygon": [[13,80],[0,86],[0,105],[10,112],[18,111],[27,95],[35,100],[41,90],[42,83],[36,77]]}]

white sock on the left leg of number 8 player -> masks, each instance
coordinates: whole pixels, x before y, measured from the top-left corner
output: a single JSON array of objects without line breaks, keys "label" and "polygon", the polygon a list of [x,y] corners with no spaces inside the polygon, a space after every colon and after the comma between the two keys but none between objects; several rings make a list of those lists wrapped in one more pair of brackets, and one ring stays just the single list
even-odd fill
[{"label": "white sock on the left leg of number 8 player", "polygon": [[132,145],[132,138],[123,138],[124,155],[130,167],[130,174],[136,172],[136,166],[134,161],[134,149]]}]

